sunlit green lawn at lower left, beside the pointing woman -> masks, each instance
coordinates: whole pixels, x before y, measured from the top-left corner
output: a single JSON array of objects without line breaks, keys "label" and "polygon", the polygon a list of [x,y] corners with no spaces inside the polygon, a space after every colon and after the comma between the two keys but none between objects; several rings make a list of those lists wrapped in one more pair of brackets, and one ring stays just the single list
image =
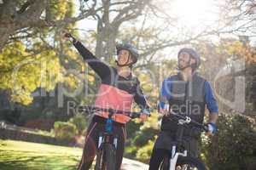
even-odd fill
[{"label": "sunlit green lawn at lower left, beside the pointing woman", "polygon": [[79,148],[0,140],[1,170],[73,170],[81,156]]}]

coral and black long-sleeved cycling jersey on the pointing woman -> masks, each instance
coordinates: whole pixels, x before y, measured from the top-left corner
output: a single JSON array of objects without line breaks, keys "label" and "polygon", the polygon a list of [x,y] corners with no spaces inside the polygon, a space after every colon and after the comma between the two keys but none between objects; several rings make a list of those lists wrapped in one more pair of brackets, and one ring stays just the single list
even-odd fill
[{"label": "coral and black long-sleeved cycling jersey on the pointing woman", "polygon": [[[149,108],[137,77],[132,77],[131,75],[129,77],[121,77],[116,68],[104,63],[101,59],[97,59],[81,42],[75,42],[74,46],[102,79],[102,84],[96,94],[96,107],[131,111],[134,100],[140,108]],[[107,112],[96,112],[96,115],[108,117]],[[120,114],[117,114],[114,118],[115,122],[121,123],[129,120],[129,116]]]}]

